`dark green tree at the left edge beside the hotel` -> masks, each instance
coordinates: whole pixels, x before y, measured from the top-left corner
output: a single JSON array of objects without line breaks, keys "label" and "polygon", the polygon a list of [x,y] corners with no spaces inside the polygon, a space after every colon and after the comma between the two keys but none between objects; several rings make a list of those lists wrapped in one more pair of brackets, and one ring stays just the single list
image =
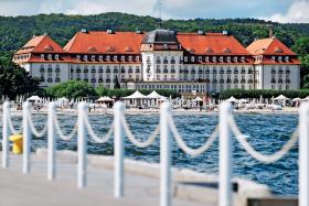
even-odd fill
[{"label": "dark green tree at the left edge beside the hotel", "polygon": [[18,95],[31,95],[39,90],[39,79],[32,78],[24,68],[0,59],[0,95],[14,99]]}]

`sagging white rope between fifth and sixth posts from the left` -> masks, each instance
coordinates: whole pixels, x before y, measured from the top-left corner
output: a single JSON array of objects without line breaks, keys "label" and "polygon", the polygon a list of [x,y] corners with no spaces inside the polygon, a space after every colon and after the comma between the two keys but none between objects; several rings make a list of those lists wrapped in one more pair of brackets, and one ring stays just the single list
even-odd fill
[{"label": "sagging white rope between fifth and sixth posts from the left", "polygon": [[158,134],[160,133],[160,124],[158,124],[156,127],[156,130],[150,134],[150,137],[146,141],[141,142],[132,134],[130,127],[124,116],[121,118],[121,123],[124,126],[124,130],[127,133],[128,139],[138,148],[147,148],[151,145],[156,141]]}]

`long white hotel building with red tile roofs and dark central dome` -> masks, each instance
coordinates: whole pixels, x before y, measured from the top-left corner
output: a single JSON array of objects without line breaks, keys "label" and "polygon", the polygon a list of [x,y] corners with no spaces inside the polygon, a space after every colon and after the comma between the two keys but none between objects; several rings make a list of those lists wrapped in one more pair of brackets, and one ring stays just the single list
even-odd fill
[{"label": "long white hotel building with red tile roofs and dark central dome", "polygon": [[278,39],[244,47],[223,33],[82,30],[62,48],[33,36],[13,62],[49,87],[70,79],[114,88],[220,93],[225,89],[299,89],[300,63]]}]

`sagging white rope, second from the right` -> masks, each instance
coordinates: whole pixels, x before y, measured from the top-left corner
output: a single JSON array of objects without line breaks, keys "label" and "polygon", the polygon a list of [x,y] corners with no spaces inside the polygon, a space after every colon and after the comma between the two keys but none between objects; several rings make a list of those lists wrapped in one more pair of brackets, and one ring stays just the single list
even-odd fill
[{"label": "sagging white rope, second from the right", "polygon": [[198,149],[192,149],[192,148],[189,148],[187,145],[187,143],[183,141],[183,139],[181,138],[171,116],[168,117],[168,123],[169,123],[171,132],[173,133],[175,142],[178,143],[179,148],[181,150],[183,150],[185,153],[190,154],[191,156],[198,156],[198,155],[202,154],[203,152],[207,151],[212,147],[212,144],[216,140],[216,138],[219,137],[219,126],[216,126],[214,131],[210,135],[210,138],[206,140],[206,142],[202,147],[200,147]]}]

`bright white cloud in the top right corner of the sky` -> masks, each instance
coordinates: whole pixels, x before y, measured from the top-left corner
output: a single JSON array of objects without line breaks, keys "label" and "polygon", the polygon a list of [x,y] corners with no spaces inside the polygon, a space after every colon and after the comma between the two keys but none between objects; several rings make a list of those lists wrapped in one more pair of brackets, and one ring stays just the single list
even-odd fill
[{"label": "bright white cloud in the top right corner of the sky", "polygon": [[309,1],[296,1],[285,14],[276,13],[262,19],[280,23],[309,23]]}]

